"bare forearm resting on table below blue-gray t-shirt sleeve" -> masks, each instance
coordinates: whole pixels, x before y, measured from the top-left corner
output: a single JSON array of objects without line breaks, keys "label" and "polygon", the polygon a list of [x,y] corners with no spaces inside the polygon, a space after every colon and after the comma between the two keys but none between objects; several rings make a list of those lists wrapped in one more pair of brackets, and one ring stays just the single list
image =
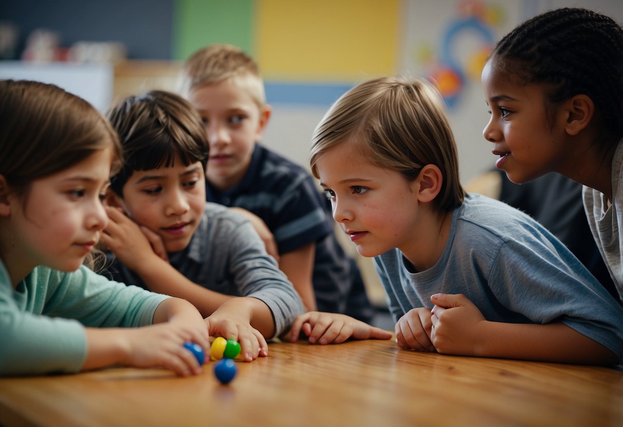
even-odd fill
[{"label": "bare forearm resting on table below blue-gray t-shirt sleeve", "polygon": [[473,347],[475,356],[570,364],[618,363],[611,350],[562,323],[485,322],[482,326]]}]

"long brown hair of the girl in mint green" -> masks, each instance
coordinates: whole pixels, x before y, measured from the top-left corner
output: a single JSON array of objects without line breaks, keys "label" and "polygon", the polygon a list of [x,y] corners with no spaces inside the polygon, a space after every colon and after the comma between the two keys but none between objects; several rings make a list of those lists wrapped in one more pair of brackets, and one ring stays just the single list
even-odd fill
[{"label": "long brown hair of the girl in mint green", "polygon": [[[121,146],[108,120],[87,101],[55,85],[0,80],[0,123],[0,175],[22,198],[23,209],[33,181],[97,151],[112,147],[111,172],[120,168]],[[85,265],[93,268],[95,256],[90,253]]]}]

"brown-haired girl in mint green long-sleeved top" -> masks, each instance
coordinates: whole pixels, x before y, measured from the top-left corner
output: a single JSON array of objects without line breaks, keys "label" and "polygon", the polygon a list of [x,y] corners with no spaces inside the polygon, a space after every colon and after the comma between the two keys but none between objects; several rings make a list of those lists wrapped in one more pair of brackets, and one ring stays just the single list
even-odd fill
[{"label": "brown-haired girl in mint green long-sleeved top", "polygon": [[14,80],[0,81],[0,123],[0,375],[201,372],[183,347],[209,349],[191,304],[82,265],[107,224],[101,198],[120,157],[110,124],[54,85]]}]

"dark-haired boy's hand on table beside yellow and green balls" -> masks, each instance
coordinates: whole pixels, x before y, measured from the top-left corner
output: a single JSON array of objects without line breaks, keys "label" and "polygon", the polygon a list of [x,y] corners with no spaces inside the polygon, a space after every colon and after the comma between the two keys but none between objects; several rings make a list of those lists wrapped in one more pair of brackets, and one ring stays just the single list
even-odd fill
[{"label": "dark-haired boy's hand on table beside yellow and green balls", "polygon": [[251,362],[259,355],[266,357],[269,346],[260,331],[252,327],[244,315],[239,316],[235,312],[221,309],[222,307],[206,317],[208,334],[239,342],[240,355],[245,362]]}]

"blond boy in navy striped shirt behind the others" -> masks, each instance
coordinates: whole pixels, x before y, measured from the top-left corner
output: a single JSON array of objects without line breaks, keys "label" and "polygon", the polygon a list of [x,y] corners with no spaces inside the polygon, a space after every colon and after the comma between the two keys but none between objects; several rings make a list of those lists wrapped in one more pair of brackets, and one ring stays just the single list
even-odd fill
[{"label": "blond boy in navy striped shirt behind the others", "polygon": [[361,274],[312,176],[258,143],[271,110],[257,63],[236,47],[211,45],[186,61],[183,81],[210,144],[207,200],[250,211],[260,234],[272,233],[279,268],[308,310],[371,320]]}]

